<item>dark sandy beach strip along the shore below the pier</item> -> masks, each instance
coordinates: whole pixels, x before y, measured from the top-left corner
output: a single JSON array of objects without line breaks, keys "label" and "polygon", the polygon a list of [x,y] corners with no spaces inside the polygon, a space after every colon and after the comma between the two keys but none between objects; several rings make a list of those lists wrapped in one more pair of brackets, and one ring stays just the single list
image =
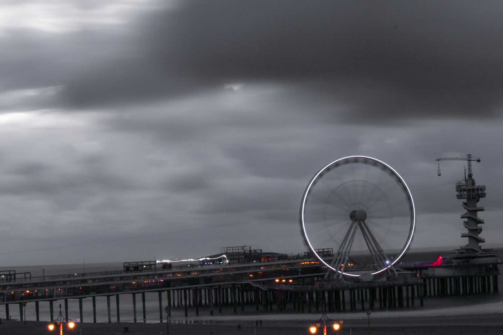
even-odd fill
[{"label": "dark sandy beach strip along the shore below the pier", "polygon": [[[281,318],[281,314],[277,315]],[[170,323],[170,335],[295,335],[308,334],[306,320],[264,320],[262,326],[256,326],[255,321],[221,320],[221,321],[187,321],[188,323]],[[192,322],[192,323],[191,323]],[[237,329],[237,324],[241,330]],[[49,331],[47,322],[2,321],[1,335],[25,334],[57,334]],[[81,326],[81,328],[80,328]],[[127,334],[166,334],[166,323],[82,323],[75,329],[64,329],[65,334],[104,335],[124,334],[124,327],[129,328]],[[373,335],[384,334],[498,334],[503,332],[503,314],[472,314],[428,317],[392,317],[371,319],[370,332]],[[329,332],[332,333],[333,332]],[[368,320],[364,318],[346,319],[344,329],[340,334],[366,335],[369,333]]]}]

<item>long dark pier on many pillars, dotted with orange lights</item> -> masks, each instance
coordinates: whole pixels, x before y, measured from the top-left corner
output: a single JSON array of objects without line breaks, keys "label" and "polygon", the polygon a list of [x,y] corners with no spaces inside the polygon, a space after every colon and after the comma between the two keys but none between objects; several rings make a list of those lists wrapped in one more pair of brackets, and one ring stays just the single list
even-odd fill
[{"label": "long dark pier on many pillars, dotted with orange lights", "polygon": [[[326,256],[333,257],[330,253]],[[120,306],[124,304],[133,305],[134,322],[146,322],[145,293],[157,292],[158,320],[163,322],[173,308],[182,309],[186,317],[200,315],[200,307],[205,307],[209,316],[220,314],[223,306],[230,306],[234,313],[238,309],[311,313],[318,312],[324,301],[328,311],[344,312],[422,306],[424,298],[431,296],[498,292],[497,265],[480,265],[485,272],[464,271],[453,277],[447,259],[445,264],[401,263],[396,266],[399,276],[393,280],[327,284],[323,279],[326,267],[309,254],[281,258],[179,266],[128,262],[122,271],[51,276],[10,271],[9,276],[0,277],[0,304],[6,305],[6,318],[10,308],[18,305],[15,308],[23,319],[23,304],[34,303],[39,320],[40,308],[48,308],[51,319],[54,317],[56,300],[64,301],[67,316],[68,299],[77,299],[83,322],[82,300],[89,298],[96,322],[96,297],[106,297],[108,322],[120,322]],[[463,272],[462,267],[457,269]]]}]

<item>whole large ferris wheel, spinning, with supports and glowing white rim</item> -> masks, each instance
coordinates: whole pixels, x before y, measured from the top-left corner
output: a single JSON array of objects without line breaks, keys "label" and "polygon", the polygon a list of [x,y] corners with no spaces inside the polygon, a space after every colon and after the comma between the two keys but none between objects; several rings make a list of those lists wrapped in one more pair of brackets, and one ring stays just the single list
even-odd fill
[{"label": "whole large ferris wheel, spinning, with supports and glowing white rim", "polygon": [[323,167],[307,185],[300,225],[307,247],[332,275],[391,273],[412,241],[414,202],[405,181],[386,163],[345,157]]}]

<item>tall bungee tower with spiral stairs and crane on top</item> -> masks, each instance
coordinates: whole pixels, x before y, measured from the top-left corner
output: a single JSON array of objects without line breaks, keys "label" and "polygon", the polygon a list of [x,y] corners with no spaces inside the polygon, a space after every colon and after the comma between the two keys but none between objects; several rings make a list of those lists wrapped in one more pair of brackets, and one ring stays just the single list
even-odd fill
[{"label": "tall bungee tower with spiral stairs and crane on top", "polygon": [[[466,249],[468,252],[481,252],[479,243],[484,243],[485,240],[478,235],[482,232],[482,227],[479,224],[483,224],[484,220],[477,216],[477,212],[484,210],[484,207],[478,207],[477,203],[480,198],[485,198],[485,185],[476,185],[475,179],[473,179],[472,165],[471,162],[480,162],[480,158],[472,159],[472,155],[468,154],[466,157],[444,157],[437,158],[437,161],[468,161],[468,177],[456,182],[456,197],[458,199],[463,199],[463,208],[466,213],[461,214],[461,218],[466,219],[463,221],[463,226],[468,230],[468,233],[462,233],[461,237],[468,238],[468,245],[462,249]],[[438,174],[440,175],[440,165],[438,169]]]}]

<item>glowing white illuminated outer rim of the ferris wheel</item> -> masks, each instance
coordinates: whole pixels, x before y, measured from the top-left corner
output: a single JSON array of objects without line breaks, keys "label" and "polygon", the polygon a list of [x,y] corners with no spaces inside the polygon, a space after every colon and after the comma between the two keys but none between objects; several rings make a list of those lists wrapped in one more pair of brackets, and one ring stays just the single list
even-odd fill
[{"label": "glowing white illuminated outer rim of the ferris wheel", "polygon": [[[412,194],[410,193],[410,190],[407,186],[407,184],[405,183],[405,181],[403,180],[403,178],[398,174],[398,172],[396,172],[391,166],[389,166],[388,164],[384,163],[383,161],[380,161],[378,159],[375,159],[373,157],[368,157],[368,156],[348,156],[348,157],[344,157],[344,158],[341,158],[341,159],[338,159],[338,160],[335,160],[329,164],[327,164],[326,166],[324,166],[321,170],[319,170],[315,175],[314,177],[312,177],[311,181],[309,181],[309,184],[307,184],[307,187],[306,187],[306,190],[304,191],[304,195],[302,196],[302,202],[301,202],[301,205],[300,205],[300,225],[301,225],[301,231],[302,231],[302,235],[304,237],[304,241],[306,242],[309,250],[314,254],[314,256],[321,262],[323,263],[325,266],[327,266],[329,269],[333,270],[333,271],[336,271],[336,272],[339,272],[339,273],[343,273],[344,275],[348,275],[348,276],[352,276],[352,277],[360,277],[360,275],[355,275],[355,274],[350,274],[350,273],[347,273],[347,272],[342,272],[341,270],[338,270],[338,269],[334,269],[332,266],[330,266],[328,263],[326,263],[319,255],[318,253],[316,253],[314,251],[314,248],[312,247],[311,245],[311,242],[309,241],[309,238],[307,236],[307,233],[306,233],[306,228],[305,228],[305,224],[304,224],[304,210],[305,210],[305,206],[306,206],[306,201],[307,201],[307,198],[308,198],[308,195],[311,191],[311,187],[313,186],[313,184],[315,183],[315,181],[317,179],[320,178],[320,175],[323,174],[323,172],[328,169],[331,165],[333,164],[337,164],[341,161],[344,161],[344,160],[349,160],[349,159],[352,159],[352,158],[356,158],[356,159],[359,159],[359,158],[363,158],[363,159],[369,159],[369,160],[372,160],[378,164],[381,164],[383,167],[387,168],[389,171],[391,171],[398,179],[398,181],[401,183],[403,189],[405,190],[406,192],[406,195],[407,195],[407,198],[409,200],[409,204],[410,204],[410,214],[411,214],[411,229],[409,231],[409,235],[407,237],[407,241],[405,243],[405,245],[403,246],[402,250],[400,251],[400,254],[395,257],[395,259],[393,259],[392,262],[390,262],[390,264],[388,264],[386,267],[384,267],[383,269],[380,269],[376,272],[373,272],[372,275],[375,275],[375,274],[378,274],[382,271],[385,271],[387,268],[391,267],[393,264],[395,264],[396,262],[398,262],[398,260],[403,256],[403,254],[405,253],[405,251],[407,250],[407,248],[409,247],[411,241],[412,241],[412,237],[414,235],[414,230],[415,230],[415,207],[414,207],[414,200],[412,199]],[[349,162],[351,163],[351,162]]]}]

